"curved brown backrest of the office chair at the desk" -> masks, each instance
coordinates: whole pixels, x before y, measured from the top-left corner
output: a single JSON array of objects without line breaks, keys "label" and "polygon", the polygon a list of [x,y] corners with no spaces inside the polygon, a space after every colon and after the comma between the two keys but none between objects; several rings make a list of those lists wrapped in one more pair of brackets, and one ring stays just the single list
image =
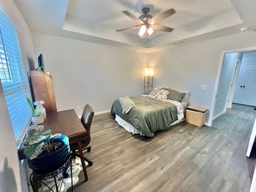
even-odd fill
[{"label": "curved brown backrest of the office chair at the desk", "polygon": [[90,128],[91,128],[93,116],[94,116],[94,110],[89,104],[86,104],[86,106],[84,106],[84,111],[81,118],[81,122],[87,132],[86,145],[88,145],[91,141]]}]

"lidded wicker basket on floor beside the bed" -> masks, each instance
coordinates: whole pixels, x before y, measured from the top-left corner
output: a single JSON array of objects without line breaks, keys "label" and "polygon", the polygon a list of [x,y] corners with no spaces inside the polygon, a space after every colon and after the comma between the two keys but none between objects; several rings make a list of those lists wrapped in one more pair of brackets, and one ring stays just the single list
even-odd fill
[{"label": "lidded wicker basket on floor beside the bed", "polygon": [[186,108],[186,122],[201,127],[204,124],[208,109],[197,106],[188,106]]}]

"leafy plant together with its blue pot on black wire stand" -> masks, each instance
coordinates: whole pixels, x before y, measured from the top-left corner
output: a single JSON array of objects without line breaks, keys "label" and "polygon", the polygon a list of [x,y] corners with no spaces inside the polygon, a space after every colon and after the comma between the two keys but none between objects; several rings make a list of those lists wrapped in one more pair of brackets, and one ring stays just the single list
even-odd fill
[{"label": "leafy plant together with its blue pot on black wire stand", "polygon": [[52,130],[26,138],[26,144],[24,154],[28,166],[40,172],[58,168],[70,155],[68,136],[60,133],[52,135]]}]

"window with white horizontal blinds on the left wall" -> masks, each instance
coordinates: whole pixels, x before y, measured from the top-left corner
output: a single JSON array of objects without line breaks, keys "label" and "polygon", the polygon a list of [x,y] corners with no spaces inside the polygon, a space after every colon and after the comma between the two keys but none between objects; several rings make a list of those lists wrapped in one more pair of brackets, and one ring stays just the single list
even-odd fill
[{"label": "window with white horizontal blinds on the left wall", "polygon": [[22,61],[18,31],[0,7],[0,79],[12,126],[19,146],[31,122],[26,96],[28,86]]}]

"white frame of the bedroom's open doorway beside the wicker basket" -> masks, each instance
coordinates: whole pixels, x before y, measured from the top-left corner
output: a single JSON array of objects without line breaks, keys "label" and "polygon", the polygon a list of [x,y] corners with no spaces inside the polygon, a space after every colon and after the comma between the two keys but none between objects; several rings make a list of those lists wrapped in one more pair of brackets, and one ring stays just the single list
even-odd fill
[{"label": "white frame of the bedroom's open doorway beside the wicker basket", "polygon": [[217,72],[217,77],[215,81],[215,86],[214,86],[214,91],[212,95],[212,104],[210,107],[210,112],[209,114],[209,119],[208,119],[208,124],[207,126],[212,126],[212,120],[213,120],[213,115],[214,115],[214,110],[216,106],[216,100],[217,100],[217,94],[218,94],[218,89],[219,89],[219,83],[220,83],[220,75],[222,71],[222,66],[225,58],[226,53],[234,53],[234,52],[246,52],[246,51],[255,51],[256,47],[247,47],[247,48],[240,48],[240,49],[233,49],[233,50],[224,50],[220,54],[220,62],[219,62],[219,67],[218,67],[218,72]]}]

